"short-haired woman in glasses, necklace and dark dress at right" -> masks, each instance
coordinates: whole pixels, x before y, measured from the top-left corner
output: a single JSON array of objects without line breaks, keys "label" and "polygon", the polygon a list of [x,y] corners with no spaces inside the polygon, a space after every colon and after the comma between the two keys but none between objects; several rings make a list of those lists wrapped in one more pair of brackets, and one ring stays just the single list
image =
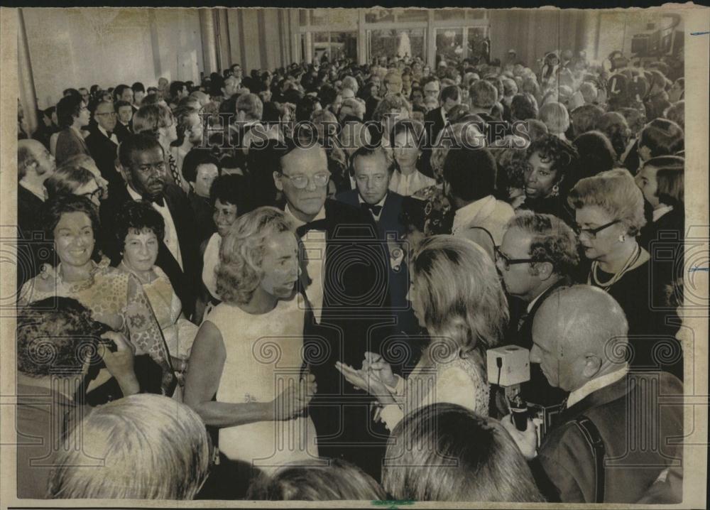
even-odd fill
[{"label": "short-haired woman in glasses, necklace and dark dress at right", "polygon": [[[608,170],[579,180],[569,192],[579,243],[591,261],[586,283],[608,292],[628,320],[630,365],[662,367],[682,376],[682,349],[674,339],[677,326],[667,325],[658,310],[668,282],[650,264],[637,242],[645,224],[643,194],[628,170]],[[618,353],[614,353],[618,354]]]}]

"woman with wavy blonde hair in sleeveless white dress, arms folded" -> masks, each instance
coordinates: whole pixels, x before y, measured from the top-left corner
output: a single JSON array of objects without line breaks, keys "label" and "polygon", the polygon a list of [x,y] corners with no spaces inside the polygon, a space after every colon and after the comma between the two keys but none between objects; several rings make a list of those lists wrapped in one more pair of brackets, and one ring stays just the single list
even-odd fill
[{"label": "woman with wavy blonde hair in sleeveless white dress, arms folded", "polygon": [[266,472],[318,455],[315,427],[303,416],[315,384],[299,378],[297,251],[293,225],[275,207],[229,227],[217,268],[222,303],[197,332],[185,383],[185,403],[219,428],[220,452]]}]

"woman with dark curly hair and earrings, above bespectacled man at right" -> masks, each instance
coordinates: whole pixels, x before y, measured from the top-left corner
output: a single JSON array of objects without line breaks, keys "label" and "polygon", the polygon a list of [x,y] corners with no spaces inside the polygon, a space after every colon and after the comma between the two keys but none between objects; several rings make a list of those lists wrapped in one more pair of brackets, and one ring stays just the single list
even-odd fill
[{"label": "woman with dark curly hair and earrings, above bespectacled man at right", "polygon": [[545,134],[530,143],[525,166],[523,209],[555,215],[572,225],[567,190],[577,182],[577,149],[567,141]]}]

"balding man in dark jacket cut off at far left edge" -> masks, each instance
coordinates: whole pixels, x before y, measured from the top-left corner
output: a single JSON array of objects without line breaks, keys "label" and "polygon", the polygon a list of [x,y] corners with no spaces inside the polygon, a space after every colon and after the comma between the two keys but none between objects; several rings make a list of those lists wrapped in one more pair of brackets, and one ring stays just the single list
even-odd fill
[{"label": "balding man in dark jacket cut off at far left edge", "polygon": [[[50,259],[40,259],[41,249],[50,242],[43,242],[43,225],[38,222],[40,210],[46,200],[44,182],[56,169],[54,156],[45,146],[36,140],[18,140],[17,142],[17,226],[18,244],[17,284],[33,278],[43,263],[52,264]],[[36,239],[40,236],[39,239]]]}]

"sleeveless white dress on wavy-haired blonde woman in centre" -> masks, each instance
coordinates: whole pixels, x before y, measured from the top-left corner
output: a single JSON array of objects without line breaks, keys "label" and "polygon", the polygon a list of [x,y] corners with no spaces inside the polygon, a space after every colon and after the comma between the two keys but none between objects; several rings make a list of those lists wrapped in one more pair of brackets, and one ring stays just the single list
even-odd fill
[{"label": "sleeveless white dress on wavy-haired blonde woman in centre", "polygon": [[[263,315],[220,303],[205,320],[222,333],[226,350],[218,402],[271,402],[290,382],[298,384],[304,310],[297,299],[280,300]],[[288,462],[315,462],[315,440],[315,426],[306,416],[219,429],[220,452],[267,473]]]}]

